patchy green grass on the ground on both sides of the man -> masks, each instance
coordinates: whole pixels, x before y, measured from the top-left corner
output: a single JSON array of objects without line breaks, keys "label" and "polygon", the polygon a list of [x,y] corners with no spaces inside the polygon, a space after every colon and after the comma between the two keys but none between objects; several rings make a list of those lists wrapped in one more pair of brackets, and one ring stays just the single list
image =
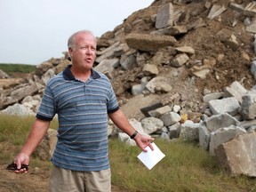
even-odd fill
[{"label": "patchy green grass on the ground on both sides of the man", "polygon": [[[28,137],[34,116],[0,115],[0,161],[10,162]],[[51,128],[57,128],[57,122]],[[245,176],[231,176],[207,151],[196,143],[155,140],[164,159],[148,170],[137,156],[140,148],[117,139],[109,140],[112,183],[129,192],[247,192],[256,191],[256,182]],[[8,148],[8,150],[6,149]],[[10,150],[14,148],[14,150]],[[50,162],[31,157],[30,165],[51,170]]]}]

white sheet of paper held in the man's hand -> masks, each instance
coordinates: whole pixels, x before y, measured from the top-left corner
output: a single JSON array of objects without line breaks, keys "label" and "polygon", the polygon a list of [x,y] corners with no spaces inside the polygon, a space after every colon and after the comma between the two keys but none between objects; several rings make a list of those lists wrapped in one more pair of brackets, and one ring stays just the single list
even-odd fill
[{"label": "white sheet of paper held in the man's hand", "polygon": [[164,158],[164,153],[157,148],[155,143],[152,143],[154,150],[152,151],[151,148],[147,147],[146,149],[148,152],[142,151],[139,156],[137,156],[140,161],[147,166],[149,170],[151,170],[159,161]]}]

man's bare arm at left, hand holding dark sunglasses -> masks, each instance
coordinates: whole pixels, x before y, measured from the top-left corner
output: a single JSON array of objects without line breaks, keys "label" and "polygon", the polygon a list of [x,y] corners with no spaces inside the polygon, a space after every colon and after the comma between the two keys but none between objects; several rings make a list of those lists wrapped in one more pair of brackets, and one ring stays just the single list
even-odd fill
[{"label": "man's bare arm at left, hand holding dark sunglasses", "polygon": [[[31,130],[28,135],[28,140],[26,141],[23,148],[20,150],[20,154],[16,156],[14,159],[14,163],[17,164],[17,168],[20,169],[21,164],[29,164],[29,157],[36,149],[38,144],[43,140],[44,134],[47,132],[49,128],[50,121],[43,121],[40,119],[36,119],[34,124],[31,127]],[[15,171],[17,173],[28,172],[25,169],[20,169],[19,171]]]}]

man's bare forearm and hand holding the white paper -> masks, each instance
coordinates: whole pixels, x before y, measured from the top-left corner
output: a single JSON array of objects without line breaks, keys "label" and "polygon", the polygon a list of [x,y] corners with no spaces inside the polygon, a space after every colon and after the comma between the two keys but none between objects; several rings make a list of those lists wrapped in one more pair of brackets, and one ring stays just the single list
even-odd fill
[{"label": "man's bare forearm and hand holding the white paper", "polygon": [[[136,131],[120,109],[114,113],[108,114],[108,116],[119,129],[128,134],[130,137]],[[145,149],[147,146],[149,146],[149,148],[152,150],[154,149],[151,144],[152,140],[154,139],[146,135],[141,135],[140,132],[138,132],[133,140],[135,140],[136,144],[145,152],[147,152],[147,149]]]}]

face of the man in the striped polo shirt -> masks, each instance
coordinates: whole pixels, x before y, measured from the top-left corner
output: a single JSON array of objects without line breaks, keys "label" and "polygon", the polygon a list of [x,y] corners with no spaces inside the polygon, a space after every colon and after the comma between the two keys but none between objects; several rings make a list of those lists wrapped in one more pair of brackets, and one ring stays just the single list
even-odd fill
[{"label": "face of the man in the striped polo shirt", "polygon": [[72,65],[81,70],[91,70],[96,56],[96,42],[92,34],[80,33],[75,36],[76,45],[69,48]]}]

